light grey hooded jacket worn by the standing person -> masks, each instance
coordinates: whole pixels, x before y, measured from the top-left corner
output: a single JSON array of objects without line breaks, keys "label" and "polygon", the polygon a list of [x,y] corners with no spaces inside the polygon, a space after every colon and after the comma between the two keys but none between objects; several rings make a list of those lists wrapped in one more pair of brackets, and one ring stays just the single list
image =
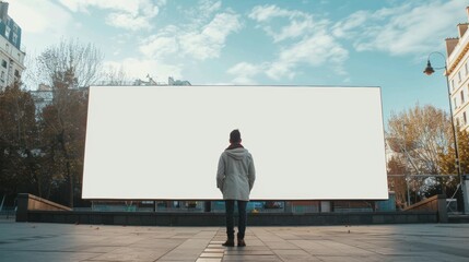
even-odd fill
[{"label": "light grey hooded jacket worn by the standing person", "polygon": [[243,147],[226,150],[219,160],[216,187],[224,200],[249,201],[256,180],[256,170],[250,153]]}]

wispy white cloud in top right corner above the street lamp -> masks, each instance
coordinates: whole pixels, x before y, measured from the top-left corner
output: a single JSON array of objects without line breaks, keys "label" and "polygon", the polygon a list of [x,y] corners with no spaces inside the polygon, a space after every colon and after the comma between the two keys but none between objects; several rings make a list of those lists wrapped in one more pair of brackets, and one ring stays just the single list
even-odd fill
[{"label": "wispy white cloud in top right corner above the street lamp", "polygon": [[[336,24],[335,35],[353,39],[359,51],[378,50],[395,56],[426,53],[443,48],[448,34],[457,34],[455,25],[467,21],[465,4],[462,0],[422,5],[410,2],[374,13],[360,11]],[[355,24],[351,26],[350,21]]]}]

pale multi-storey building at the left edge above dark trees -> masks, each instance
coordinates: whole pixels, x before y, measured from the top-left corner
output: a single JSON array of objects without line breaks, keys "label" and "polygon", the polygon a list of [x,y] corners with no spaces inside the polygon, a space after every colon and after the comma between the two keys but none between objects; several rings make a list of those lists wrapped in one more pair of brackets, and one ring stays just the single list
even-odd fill
[{"label": "pale multi-storey building at the left edge above dark trees", "polygon": [[21,80],[24,57],[21,27],[8,15],[7,2],[0,1],[0,90]]}]

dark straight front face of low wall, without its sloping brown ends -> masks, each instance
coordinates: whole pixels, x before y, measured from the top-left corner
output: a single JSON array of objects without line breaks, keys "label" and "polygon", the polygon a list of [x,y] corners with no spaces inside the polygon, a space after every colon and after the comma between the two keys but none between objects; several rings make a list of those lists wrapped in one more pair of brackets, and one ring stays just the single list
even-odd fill
[{"label": "dark straight front face of low wall, without its sloping brown ends", "polygon": [[[223,213],[28,211],[26,222],[121,226],[224,226]],[[436,212],[249,214],[249,226],[438,223]]]}]

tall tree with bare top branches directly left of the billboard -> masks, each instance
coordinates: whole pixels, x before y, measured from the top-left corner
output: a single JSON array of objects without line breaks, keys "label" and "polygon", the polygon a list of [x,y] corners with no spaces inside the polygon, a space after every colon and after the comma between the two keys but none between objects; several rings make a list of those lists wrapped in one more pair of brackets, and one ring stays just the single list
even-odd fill
[{"label": "tall tree with bare top branches directly left of the billboard", "polygon": [[52,103],[39,114],[50,172],[68,184],[73,207],[83,169],[89,85],[103,76],[104,56],[93,44],[61,40],[37,57],[40,83],[52,88]]}]

